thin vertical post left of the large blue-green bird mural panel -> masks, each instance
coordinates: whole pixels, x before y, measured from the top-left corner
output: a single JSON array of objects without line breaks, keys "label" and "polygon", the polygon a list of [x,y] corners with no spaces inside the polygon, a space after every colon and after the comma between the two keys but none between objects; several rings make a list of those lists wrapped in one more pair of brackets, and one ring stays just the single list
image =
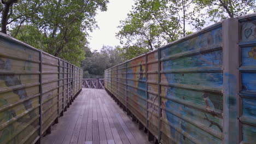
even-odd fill
[{"label": "thin vertical post left of the large blue-green bird mural panel", "polygon": [[158,49],[158,142],[161,142],[161,50]]}]

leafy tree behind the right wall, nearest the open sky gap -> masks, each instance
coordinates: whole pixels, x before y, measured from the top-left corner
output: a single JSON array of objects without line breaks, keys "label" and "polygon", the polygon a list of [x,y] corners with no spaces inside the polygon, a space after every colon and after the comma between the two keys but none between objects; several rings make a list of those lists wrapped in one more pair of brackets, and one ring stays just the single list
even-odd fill
[{"label": "leafy tree behind the right wall, nearest the open sky gap", "polygon": [[[195,11],[188,11],[194,0],[136,0],[132,11],[124,21],[120,21],[117,33],[123,52],[139,53],[146,49],[152,51],[162,45],[190,34],[186,25],[193,24],[196,29],[203,26],[202,19],[192,19]],[[130,55],[131,56],[131,55]]]}]

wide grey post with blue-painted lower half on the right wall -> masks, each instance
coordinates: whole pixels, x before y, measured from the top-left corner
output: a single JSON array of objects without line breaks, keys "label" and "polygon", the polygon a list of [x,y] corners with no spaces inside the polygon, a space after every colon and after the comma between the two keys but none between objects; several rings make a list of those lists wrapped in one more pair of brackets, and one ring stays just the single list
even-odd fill
[{"label": "wide grey post with blue-painted lower half on the right wall", "polygon": [[[223,21],[223,143],[238,143],[239,66],[238,20]],[[234,137],[237,137],[235,139]]]}]

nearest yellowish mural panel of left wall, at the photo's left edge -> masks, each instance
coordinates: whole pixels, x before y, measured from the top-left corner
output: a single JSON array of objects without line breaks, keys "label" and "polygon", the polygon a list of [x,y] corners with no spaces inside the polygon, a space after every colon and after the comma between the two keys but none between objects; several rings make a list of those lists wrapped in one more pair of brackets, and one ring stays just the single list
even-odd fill
[{"label": "nearest yellowish mural panel of left wall, at the photo's left edge", "polygon": [[2,37],[0,43],[0,143],[30,141],[39,127],[39,52]]}]

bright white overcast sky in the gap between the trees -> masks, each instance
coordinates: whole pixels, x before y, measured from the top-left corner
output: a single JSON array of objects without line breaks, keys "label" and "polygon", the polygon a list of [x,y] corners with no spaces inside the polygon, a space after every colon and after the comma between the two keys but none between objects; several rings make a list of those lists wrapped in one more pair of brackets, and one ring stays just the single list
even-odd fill
[{"label": "bright white overcast sky in the gap between the trees", "polygon": [[100,50],[103,45],[120,45],[115,33],[118,32],[119,21],[124,20],[132,10],[132,4],[132,0],[110,0],[108,10],[98,13],[96,21],[99,28],[90,33],[91,50]]}]

